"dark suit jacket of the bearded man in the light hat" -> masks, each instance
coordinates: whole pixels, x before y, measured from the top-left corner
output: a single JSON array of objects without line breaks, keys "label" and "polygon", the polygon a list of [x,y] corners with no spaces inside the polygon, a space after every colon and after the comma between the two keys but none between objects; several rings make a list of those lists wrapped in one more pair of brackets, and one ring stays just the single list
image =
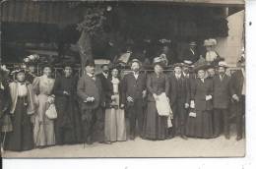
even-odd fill
[{"label": "dark suit jacket of the bearded man in the light hat", "polygon": [[146,89],[146,75],[139,74],[136,80],[133,73],[124,76],[122,82],[122,99],[121,103],[126,104],[126,98],[131,96],[133,99],[143,100],[142,91]]}]

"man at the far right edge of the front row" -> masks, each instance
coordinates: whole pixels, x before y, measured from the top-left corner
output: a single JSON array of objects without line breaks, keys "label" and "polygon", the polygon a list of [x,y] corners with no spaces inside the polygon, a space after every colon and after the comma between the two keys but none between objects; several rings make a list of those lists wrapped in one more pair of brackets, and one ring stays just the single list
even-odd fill
[{"label": "man at the far right edge of the front row", "polygon": [[231,76],[231,97],[233,106],[236,110],[236,132],[237,137],[236,141],[242,139],[244,119],[245,114],[245,59],[241,58],[237,67],[240,67],[241,70],[236,71]]}]

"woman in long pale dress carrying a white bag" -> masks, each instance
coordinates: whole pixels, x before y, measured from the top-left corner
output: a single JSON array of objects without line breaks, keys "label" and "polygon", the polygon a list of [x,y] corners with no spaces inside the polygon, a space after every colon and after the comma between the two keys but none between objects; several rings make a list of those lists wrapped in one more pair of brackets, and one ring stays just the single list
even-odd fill
[{"label": "woman in long pale dress carrying a white bag", "polygon": [[54,102],[52,88],[54,79],[51,78],[52,69],[42,67],[43,75],[33,80],[33,89],[37,94],[38,107],[34,116],[33,139],[35,146],[44,147],[55,144],[54,122],[45,116],[49,105]]}]

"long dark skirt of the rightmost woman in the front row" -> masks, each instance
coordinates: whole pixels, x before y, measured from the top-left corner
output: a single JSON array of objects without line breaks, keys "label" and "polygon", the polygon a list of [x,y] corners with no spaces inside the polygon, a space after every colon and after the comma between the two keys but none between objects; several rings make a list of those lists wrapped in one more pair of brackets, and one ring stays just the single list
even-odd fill
[{"label": "long dark skirt of the rightmost woman in the front row", "polygon": [[213,138],[212,111],[197,111],[196,117],[188,117],[186,135],[192,138]]}]

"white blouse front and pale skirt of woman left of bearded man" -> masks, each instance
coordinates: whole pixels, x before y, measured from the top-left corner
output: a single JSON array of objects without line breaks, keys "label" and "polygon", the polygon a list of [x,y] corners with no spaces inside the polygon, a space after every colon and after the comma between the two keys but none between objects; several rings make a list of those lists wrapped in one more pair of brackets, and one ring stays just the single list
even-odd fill
[{"label": "white blouse front and pale skirt of woman left of bearded man", "polygon": [[116,101],[110,108],[105,110],[105,141],[126,141],[126,125],[124,110],[119,108],[119,89],[120,81],[113,78],[113,92]]}]

